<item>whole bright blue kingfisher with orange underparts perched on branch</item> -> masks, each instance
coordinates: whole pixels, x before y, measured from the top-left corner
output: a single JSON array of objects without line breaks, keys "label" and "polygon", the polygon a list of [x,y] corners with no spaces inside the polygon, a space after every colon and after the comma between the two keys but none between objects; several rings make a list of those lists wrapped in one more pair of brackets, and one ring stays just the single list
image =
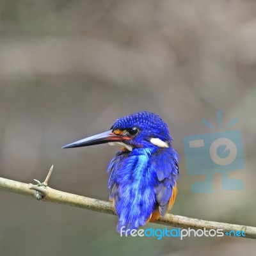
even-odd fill
[{"label": "whole bright blue kingfisher with orange underparts perched on branch", "polygon": [[102,143],[121,146],[107,168],[117,232],[129,234],[163,217],[175,202],[179,179],[179,155],[166,123],[155,113],[141,111],[118,118],[109,131],[63,148]]}]

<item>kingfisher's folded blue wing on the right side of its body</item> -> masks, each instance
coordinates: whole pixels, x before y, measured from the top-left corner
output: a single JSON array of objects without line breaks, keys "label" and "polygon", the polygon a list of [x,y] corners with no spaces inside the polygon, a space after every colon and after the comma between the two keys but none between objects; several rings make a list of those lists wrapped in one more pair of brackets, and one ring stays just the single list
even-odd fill
[{"label": "kingfisher's folded blue wing on the right side of its body", "polygon": [[161,148],[152,155],[152,166],[157,176],[154,192],[161,216],[168,211],[173,188],[179,179],[178,159],[179,156],[172,147]]}]

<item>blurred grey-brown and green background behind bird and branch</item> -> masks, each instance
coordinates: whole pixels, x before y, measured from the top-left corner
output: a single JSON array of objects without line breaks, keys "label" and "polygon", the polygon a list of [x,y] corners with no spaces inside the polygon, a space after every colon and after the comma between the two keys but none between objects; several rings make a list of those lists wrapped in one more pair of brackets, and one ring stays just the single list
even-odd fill
[{"label": "blurred grey-brown and green background behind bird and branch", "polygon": [[[0,0],[0,177],[108,200],[106,166],[117,147],[63,150],[136,111],[163,117],[180,154],[173,214],[256,225],[256,2]],[[193,194],[184,136],[242,134],[241,191]],[[120,237],[117,217],[0,191],[1,255],[240,255],[234,237]],[[149,224],[147,227],[164,228]]]}]

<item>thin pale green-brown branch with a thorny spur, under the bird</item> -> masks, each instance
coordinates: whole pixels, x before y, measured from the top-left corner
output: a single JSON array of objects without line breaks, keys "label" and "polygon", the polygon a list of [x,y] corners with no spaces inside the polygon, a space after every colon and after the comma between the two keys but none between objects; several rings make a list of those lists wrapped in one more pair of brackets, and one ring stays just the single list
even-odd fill
[{"label": "thin pale green-brown branch with a thorny spur, under the bird", "polygon": [[[58,204],[65,204],[74,207],[84,208],[92,211],[115,214],[115,209],[110,202],[98,200],[90,197],[79,196],[70,194],[67,192],[59,191],[49,188],[47,182],[51,176],[52,168],[44,182],[39,182],[37,185],[26,184],[15,180],[4,179],[0,177],[0,189],[19,193],[21,195],[35,196],[38,200],[45,202],[54,202]],[[195,218],[188,218],[179,215],[166,214],[164,218],[156,221],[161,225],[168,225],[172,227],[180,228],[194,228],[194,229],[206,229],[217,230],[223,229],[223,232],[230,232],[230,230],[244,232],[246,238],[256,239],[256,227],[248,227],[244,225],[236,225],[229,223],[221,223],[216,221],[198,220]],[[241,236],[243,237],[243,236]]]}]

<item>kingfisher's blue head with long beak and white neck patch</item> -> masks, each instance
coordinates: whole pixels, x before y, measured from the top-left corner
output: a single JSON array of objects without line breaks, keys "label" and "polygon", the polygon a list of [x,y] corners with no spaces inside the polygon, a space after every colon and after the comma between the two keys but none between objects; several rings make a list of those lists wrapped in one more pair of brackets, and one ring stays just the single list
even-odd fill
[{"label": "kingfisher's blue head with long beak and white neck patch", "polygon": [[63,148],[109,143],[120,144],[131,151],[132,148],[169,147],[171,141],[168,127],[161,117],[143,111],[118,118],[109,131],[70,143]]}]

